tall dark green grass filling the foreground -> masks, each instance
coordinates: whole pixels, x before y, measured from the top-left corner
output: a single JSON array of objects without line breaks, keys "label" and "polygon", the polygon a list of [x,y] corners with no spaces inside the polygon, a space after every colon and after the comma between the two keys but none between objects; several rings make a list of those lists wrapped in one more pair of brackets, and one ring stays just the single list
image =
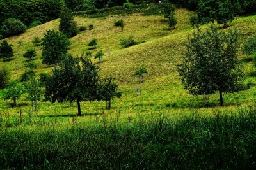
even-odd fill
[{"label": "tall dark green grass filling the foreground", "polygon": [[0,169],[255,169],[256,110],[0,131]]}]

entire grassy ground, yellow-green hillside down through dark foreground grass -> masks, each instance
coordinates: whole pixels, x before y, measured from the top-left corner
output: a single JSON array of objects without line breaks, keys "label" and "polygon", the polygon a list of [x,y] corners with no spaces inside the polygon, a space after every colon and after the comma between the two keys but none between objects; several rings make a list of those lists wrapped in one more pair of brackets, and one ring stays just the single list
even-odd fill
[{"label": "entire grassy ground, yellow-green hillside down through dark foreground grass", "polygon": [[[29,101],[26,101],[24,96],[18,101],[18,104],[22,105],[21,108],[10,108],[9,101],[0,99],[0,148],[3,148],[0,152],[0,164],[4,168],[18,169],[255,167],[255,111],[250,110],[249,106],[255,104],[256,87],[225,94],[223,107],[218,105],[217,94],[204,101],[202,96],[192,96],[182,88],[177,64],[182,61],[186,38],[193,32],[189,25],[191,15],[192,11],[176,10],[178,24],[173,30],[168,29],[163,16],[133,14],[101,18],[76,17],[79,26],[93,24],[94,29],[79,32],[71,38],[72,46],[69,52],[74,56],[81,55],[90,48],[87,45],[92,38],[99,39],[99,46],[92,51],[95,54],[98,50],[103,50],[106,54],[103,62],[99,64],[100,76],[115,76],[122,97],[113,101],[112,110],[103,110],[103,102],[82,103],[84,117],[74,117],[77,113],[76,103],[70,107],[69,103],[40,102],[38,112],[33,113]],[[124,31],[114,27],[114,21],[120,18],[124,20]],[[19,79],[26,70],[23,66],[26,59],[22,54],[33,46],[32,39],[35,36],[42,38],[49,29],[57,30],[58,22],[59,20],[53,20],[29,29],[20,36],[7,39],[14,47],[15,57],[9,62],[0,61],[0,64],[11,72],[12,81]],[[215,25],[221,29],[221,25]],[[256,15],[239,17],[229,25],[229,28],[236,27],[239,31],[239,59],[244,65],[245,83],[256,83],[254,58],[241,52],[244,41],[250,36],[256,36]],[[209,25],[202,25],[202,29],[207,27]],[[130,35],[134,36],[139,44],[122,49],[119,45],[120,39]],[[19,41],[22,43],[19,44]],[[37,75],[51,73],[53,69],[53,66],[41,64],[41,52],[42,50],[38,49],[36,62],[40,63],[40,67],[36,69]],[[92,60],[98,64],[94,57]],[[147,67],[148,74],[145,76],[145,82],[139,84],[134,71],[141,65]],[[136,95],[137,87],[141,87],[140,96]],[[191,118],[195,113],[198,117]],[[220,115],[220,122],[217,121],[216,115]],[[243,124],[237,124],[239,121]],[[164,131],[159,130],[160,124],[163,124]],[[218,124],[220,129],[215,129]],[[184,131],[181,130],[182,127]],[[239,133],[236,134],[236,130]],[[228,135],[225,137],[226,134]],[[170,137],[167,139],[163,138],[164,136]],[[213,138],[216,141],[211,141]],[[227,139],[230,141],[225,143]],[[88,141],[88,146],[84,146],[83,141]],[[15,144],[9,146],[8,143]],[[200,148],[202,145],[204,149]],[[213,145],[216,145],[216,148]],[[92,152],[93,146],[98,147],[95,152]],[[10,151],[12,153],[8,153]],[[156,155],[153,152],[156,152]],[[200,155],[200,152],[209,152],[209,155]],[[225,155],[225,152],[233,155]],[[217,162],[209,162],[213,156],[217,158],[218,155]],[[233,156],[235,158],[231,159]],[[163,158],[166,160],[160,160]],[[87,162],[85,159],[88,159]],[[199,159],[202,159],[202,163]],[[221,159],[229,162],[221,165]],[[238,160],[240,162],[237,162]],[[248,164],[244,164],[243,160]],[[15,165],[15,161],[19,164]],[[86,163],[82,164],[84,161]],[[121,163],[113,164],[118,161]],[[208,165],[205,164],[207,161]],[[71,162],[74,164],[70,165]],[[196,164],[198,166],[192,166]]]}]

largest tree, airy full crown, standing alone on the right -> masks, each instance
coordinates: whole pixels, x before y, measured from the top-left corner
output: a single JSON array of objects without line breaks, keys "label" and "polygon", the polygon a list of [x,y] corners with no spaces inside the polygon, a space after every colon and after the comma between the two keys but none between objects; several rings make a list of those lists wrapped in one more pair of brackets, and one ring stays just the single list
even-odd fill
[{"label": "largest tree, airy full crown, standing alone on the right", "polygon": [[189,36],[186,55],[179,67],[184,89],[194,95],[219,92],[223,106],[223,92],[238,91],[243,81],[237,40],[236,29],[225,33],[213,26],[205,32],[198,29]]}]

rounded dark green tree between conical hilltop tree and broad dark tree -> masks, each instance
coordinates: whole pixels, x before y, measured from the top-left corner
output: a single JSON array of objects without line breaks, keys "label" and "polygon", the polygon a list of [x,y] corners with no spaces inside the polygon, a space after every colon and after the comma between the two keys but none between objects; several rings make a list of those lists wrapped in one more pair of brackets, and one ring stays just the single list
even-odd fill
[{"label": "rounded dark green tree between conical hilltop tree and broad dark tree", "polygon": [[47,31],[42,39],[42,60],[44,64],[55,64],[61,62],[67,55],[67,50],[71,43],[69,39],[62,32]]}]

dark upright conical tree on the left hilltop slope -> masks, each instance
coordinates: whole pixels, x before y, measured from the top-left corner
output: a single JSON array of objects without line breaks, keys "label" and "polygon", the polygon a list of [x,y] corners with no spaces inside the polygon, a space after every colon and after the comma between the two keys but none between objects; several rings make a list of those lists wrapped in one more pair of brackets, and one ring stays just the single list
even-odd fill
[{"label": "dark upright conical tree on the left hilltop slope", "polygon": [[59,30],[66,34],[68,37],[76,36],[77,24],[72,17],[72,11],[63,6],[60,12],[60,25]]}]

